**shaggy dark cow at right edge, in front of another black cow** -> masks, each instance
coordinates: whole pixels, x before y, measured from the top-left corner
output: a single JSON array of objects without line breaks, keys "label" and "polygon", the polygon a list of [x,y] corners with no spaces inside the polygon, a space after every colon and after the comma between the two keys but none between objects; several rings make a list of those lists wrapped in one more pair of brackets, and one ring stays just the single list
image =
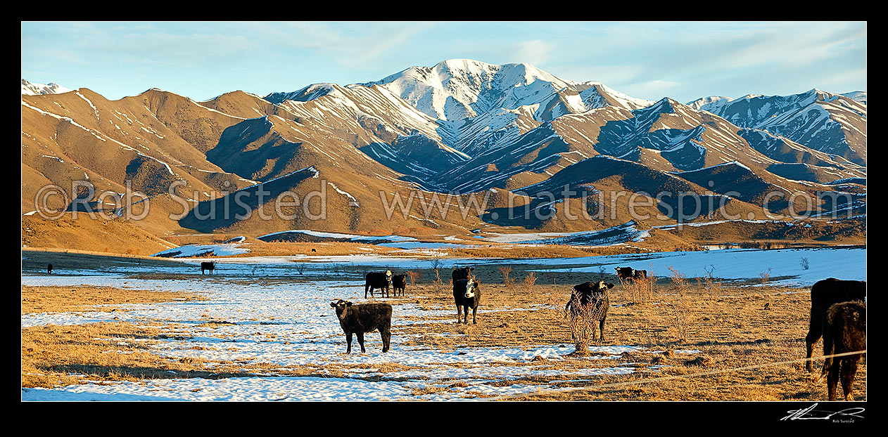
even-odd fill
[{"label": "shaggy dark cow at right edge, in front of another black cow", "polygon": [[[860,300],[836,303],[823,315],[823,355],[844,354],[867,349],[867,304]],[[854,374],[861,354],[827,358],[817,382],[827,377],[829,400],[836,400],[836,386],[842,380],[844,400],[853,401],[851,394]],[[810,362],[809,362],[810,363]]]}]

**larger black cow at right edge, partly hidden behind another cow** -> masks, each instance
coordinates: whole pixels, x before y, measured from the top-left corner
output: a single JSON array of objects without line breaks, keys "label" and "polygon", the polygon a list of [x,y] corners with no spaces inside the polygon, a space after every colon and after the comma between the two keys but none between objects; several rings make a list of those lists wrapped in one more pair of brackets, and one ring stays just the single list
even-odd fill
[{"label": "larger black cow at right edge, partly hidden behind another cow", "polygon": [[[866,281],[843,281],[830,277],[811,287],[811,319],[808,321],[808,335],[805,336],[805,358],[811,358],[814,345],[823,335],[823,315],[829,307],[835,303],[864,300],[866,296]],[[813,371],[811,360],[805,363],[805,369]]]}]

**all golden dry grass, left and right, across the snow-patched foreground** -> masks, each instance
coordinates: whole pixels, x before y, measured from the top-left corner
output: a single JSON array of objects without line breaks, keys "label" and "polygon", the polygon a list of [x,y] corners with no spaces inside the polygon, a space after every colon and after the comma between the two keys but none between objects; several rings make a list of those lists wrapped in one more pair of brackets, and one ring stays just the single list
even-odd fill
[{"label": "all golden dry grass, left and right, across the snow-patched foreground", "polygon": [[[446,272],[449,274],[449,270]],[[443,309],[453,314],[424,316],[423,320],[414,321],[415,324],[399,326],[392,336],[408,337],[408,346],[440,351],[453,351],[457,347],[573,347],[569,324],[561,308],[567,302],[569,285],[588,277],[566,276],[569,274],[535,277],[532,272],[513,269],[509,280],[504,281],[502,271],[481,269],[476,273],[482,282],[478,324],[456,324],[449,278],[439,282],[432,271],[425,271],[423,284],[408,285],[406,297],[385,300],[396,305],[416,304],[428,310]],[[826,400],[825,383],[815,385],[811,378],[816,374],[803,371],[800,361],[805,355],[808,289],[683,279],[654,279],[642,289],[618,284],[611,291],[605,340],[593,341],[591,345],[641,347],[624,353],[619,360],[632,363],[636,371],[577,379],[571,372],[610,364],[597,363],[594,352],[591,357],[567,355],[560,360],[538,357],[528,363],[503,365],[534,366],[554,371],[555,376],[550,372],[545,377],[490,384],[547,385],[569,391],[541,390],[519,396],[480,397],[509,401]],[[553,281],[557,284],[551,284]],[[200,297],[85,286],[23,287],[22,312],[82,311],[110,302],[183,299]],[[208,326],[225,323],[207,321]],[[274,365],[224,360],[213,363],[212,371],[207,371],[206,362],[201,359],[168,359],[152,353],[149,346],[153,341],[183,335],[180,328],[176,324],[129,323],[24,328],[21,332],[22,386],[66,386],[84,379],[249,377],[267,375],[271,368],[281,376],[335,377],[347,370],[335,363],[281,369]],[[817,350],[815,356],[821,356],[821,350]],[[815,367],[819,368],[821,363],[821,360],[815,362]],[[366,366],[357,367],[362,365]],[[379,371],[405,369],[408,366],[386,363]],[[558,375],[560,371],[564,372],[563,376]],[[459,384],[459,378],[440,380],[436,386],[416,389],[416,394],[429,394]],[[866,365],[860,366],[854,391],[855,400],[867,399]]]}]

